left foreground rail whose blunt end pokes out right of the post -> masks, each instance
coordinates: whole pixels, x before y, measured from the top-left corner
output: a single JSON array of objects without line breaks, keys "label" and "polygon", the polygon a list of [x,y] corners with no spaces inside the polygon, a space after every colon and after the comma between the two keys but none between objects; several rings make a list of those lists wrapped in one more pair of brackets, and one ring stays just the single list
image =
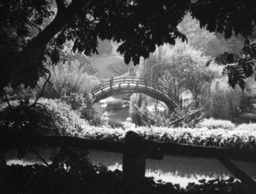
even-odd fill
[{"label": "left foreground rail whose blunt end pokes out right of the post", "polygon": [[[3,136],[2,136],[3,137]],[[152,146],[132,146],[124,141],[109,141],[100,139],[86,139],[75,136],[60,136],[60,135],[35,135],[33,137],[5,138],[0,137],[0,149],[9,150],[20,147],[73,147],[81,149],[93,149],[106,152],[115,152],[123,154],[124,152],[131,156],[145,155],[146,158],[162,160],[163,154],[157,147]],[[136,150],[136,153],[134,152]]]}]

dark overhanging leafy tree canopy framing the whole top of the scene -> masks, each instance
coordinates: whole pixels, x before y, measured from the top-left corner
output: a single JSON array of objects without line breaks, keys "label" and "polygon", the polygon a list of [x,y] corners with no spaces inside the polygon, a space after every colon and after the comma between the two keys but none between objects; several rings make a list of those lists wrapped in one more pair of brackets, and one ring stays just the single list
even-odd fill
[{"label": "dark overhanging leafy tree canopy framing the whole top of the scene", "polygon": [[44,62],[73,52],[97,54],[97,39],[121,42],[125,63],[139,64],[156,45],[187,41],[178,24],[190,12],[210,32],[253,34],[256,2],[241,0],[2,0],[0,2],[0,89],[10,81],[35,87],[46,76]]}]

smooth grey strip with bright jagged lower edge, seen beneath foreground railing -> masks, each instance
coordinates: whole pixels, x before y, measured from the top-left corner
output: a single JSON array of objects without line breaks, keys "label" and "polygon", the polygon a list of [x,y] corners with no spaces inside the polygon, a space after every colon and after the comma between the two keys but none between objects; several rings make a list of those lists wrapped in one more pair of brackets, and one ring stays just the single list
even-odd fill
[{"label": "smooth grey strip with bright jagged lower edge, seen beneath foreground railing", "polygon": [[[39,149],[39,154],[50,162],[51,149]],[[89,157],[93,163],[103,164],[111,171],[122,171],[122,155],[112,152],[90,150]],[[12,150],[5,154],[8,165],[28,165],[41,163],[36,155],[29,154],[22,161],[16,158],[17,151]],[[256,180],[256,163],[233,161],[239,168]],[[146,177],[154,177],[156,180],[172,182],[186,187],[189,182],[199,183],[201,179],[228,179],[232,174],[217,160],[194,158],[174,155],[164,155],[163,160],[146,159]]]}]

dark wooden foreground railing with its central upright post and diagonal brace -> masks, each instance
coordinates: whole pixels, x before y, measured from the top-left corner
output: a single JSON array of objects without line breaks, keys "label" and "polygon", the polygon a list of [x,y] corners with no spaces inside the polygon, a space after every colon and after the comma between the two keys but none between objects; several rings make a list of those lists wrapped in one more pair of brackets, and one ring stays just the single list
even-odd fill
[{"label": "dark wooden foreground railing with its central upright post and diagonal brace", "polygon": [[[8,138],[9,139],[9,138]],[[27,137],[20,141],[3,139],[0,147],[19,147],[20,142],[30,142],[30,145],[48,148],[56,147],[77,147],[83,149],[94,149],[123,154],[123,188],[122,193],[137,192],[143,187],[145,181],[146,158],[162,160],[164,154],[185,155],[191,157],[216,158],[229,169],[229,171],[242,181],[252,193],[256,193],[256,182],[246,173],[242,172],[232,160],[256,162],[256,153],[251,151],[241,151],[224,149],[217,147],[192,146],[188,144],[164,143],[143,140],[133,131],[125,135],[124,141],[109,141],[98,139],[86,139],[72,136],[37,135],[33,138]]]}]

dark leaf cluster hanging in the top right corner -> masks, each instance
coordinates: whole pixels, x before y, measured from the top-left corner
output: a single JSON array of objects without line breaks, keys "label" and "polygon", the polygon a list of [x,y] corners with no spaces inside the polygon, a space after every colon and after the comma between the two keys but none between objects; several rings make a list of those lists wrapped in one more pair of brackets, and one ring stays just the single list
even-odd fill
[{"label": "dark leaf cluster hanging in the top right corner", "polygon": [[224,33],[225,38],[230,38],[233,33],[243,37],[253,33],[255,1],[191,1],[189,9],[191,16],[200,21],[201,28]]}]

